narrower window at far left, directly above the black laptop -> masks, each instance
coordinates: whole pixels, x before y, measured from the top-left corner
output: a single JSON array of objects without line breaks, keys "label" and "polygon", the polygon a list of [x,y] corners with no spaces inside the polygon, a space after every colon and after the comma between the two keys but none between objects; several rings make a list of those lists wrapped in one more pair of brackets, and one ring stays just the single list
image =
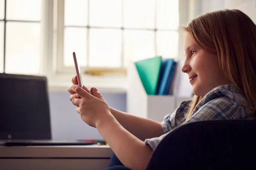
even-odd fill
[{"label": "narrower window at far left, directly above the black laptop", "polygon": [[0,0],[0,72],[41,71],[41,0]]}]

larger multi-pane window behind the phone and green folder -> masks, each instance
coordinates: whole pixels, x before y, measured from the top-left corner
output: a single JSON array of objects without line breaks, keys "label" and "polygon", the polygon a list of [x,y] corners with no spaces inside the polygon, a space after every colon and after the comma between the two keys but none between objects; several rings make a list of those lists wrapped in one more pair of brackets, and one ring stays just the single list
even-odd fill
[{"label": "larger multi-pane window behind the phone and green folder", "polygon": [[179,0],[59,0],[55,15],[57,70],[70,73],[149,57],[178,57]]}]

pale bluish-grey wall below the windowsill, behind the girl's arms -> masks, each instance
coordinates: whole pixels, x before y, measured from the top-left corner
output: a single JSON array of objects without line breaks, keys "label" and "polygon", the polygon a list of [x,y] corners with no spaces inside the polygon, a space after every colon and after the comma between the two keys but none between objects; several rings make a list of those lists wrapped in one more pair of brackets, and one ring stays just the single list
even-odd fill
[{"label": "pale bluish-grey wall below the windowsill, behind the girl's arms", "polygon": [[[67,91],[50,91],[52,139],[102,139],[98,130],[82,121],[76,107],[69,100]],[[102,94],[108,105],[126,111],[126,94]]]}]

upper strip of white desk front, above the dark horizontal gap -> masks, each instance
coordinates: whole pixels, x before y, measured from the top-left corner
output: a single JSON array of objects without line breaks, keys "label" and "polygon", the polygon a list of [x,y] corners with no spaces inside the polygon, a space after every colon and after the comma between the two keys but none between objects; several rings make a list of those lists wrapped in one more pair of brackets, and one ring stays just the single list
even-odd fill
[{"label": "upper strip of white desk front, above the dark horizontal gap", "polygon": [[1,158],[110,158],[108,145],[0,146]]}]

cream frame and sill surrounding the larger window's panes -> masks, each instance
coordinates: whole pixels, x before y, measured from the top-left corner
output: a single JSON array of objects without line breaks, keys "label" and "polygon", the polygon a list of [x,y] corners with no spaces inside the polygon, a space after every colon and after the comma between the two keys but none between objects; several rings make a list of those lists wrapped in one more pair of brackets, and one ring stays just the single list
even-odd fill
[{"label": "cream frame and sill surrounding the larger window's panes", "polygon": [[[192,0],[196,1],[196,0]],[[193,5],[194,4],[194,5]],[[42,9],[42,29],[43,35],[43,71],[42,73],[47,77],[50,90],[67,90],[71,85],[71,78],[76,74],[72,67],[64,67],[63,62],[63,43],[64,43],[64,0],[44,0]],[[187,2],[186,0],[179,0],[179,24],[186,25],[191,17],[194,17],[195,3]],[[193,16],[191,16],[193,15]],[[56,16],[58,20],[56,20]],[[183,58],[183,35],[179,34],[178,57]],[[94,68],[94,70],[97,68]],[[89,68],[90,70],[90,68]],[[88,88],[97,87],[103,92],[125,93],[127,88],[126,69],[120,71],[121,74],[109,75],[91,75],[85,74],[86,69],[81,68],[82,79],[84,85]],[[99,70],[98,70],[99,71]],[[103,69],[101,73],[106,70]],[[111,69],[111,73],[116,73],[115,69]]]}]

